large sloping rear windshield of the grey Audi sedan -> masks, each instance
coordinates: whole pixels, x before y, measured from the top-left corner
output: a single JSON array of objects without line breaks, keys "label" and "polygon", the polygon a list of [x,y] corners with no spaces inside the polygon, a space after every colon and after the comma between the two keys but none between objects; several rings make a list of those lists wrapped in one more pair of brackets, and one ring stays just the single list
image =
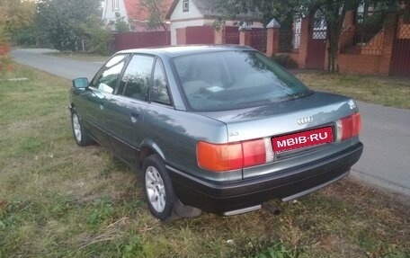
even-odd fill
[{"label": "large sloping rear windshield of the grey Audi sedan", "polygon": [[256,51],[223,51],[173,59],[193,111],[227,111],[310,93],[296,77]]}]

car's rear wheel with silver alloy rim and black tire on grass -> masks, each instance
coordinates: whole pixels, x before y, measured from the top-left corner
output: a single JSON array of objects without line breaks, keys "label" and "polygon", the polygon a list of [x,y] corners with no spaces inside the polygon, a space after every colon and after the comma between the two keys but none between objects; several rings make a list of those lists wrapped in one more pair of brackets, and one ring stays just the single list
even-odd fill
[{"label": "car's rear wheel with silver alloy rim and black tire on grass", "polygon": [[174,219],[174,190],[164,160],[158,155],[148,156],[142,166],[142,182],[148,209],[162,221]]}]

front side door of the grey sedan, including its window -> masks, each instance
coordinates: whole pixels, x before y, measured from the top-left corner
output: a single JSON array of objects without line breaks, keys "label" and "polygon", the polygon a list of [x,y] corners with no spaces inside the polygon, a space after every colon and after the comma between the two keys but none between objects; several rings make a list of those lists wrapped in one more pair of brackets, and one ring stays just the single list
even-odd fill
[{"label": "front side door of the grey sedan, including its window", "polygon": [[82,97],[86,101],[82,102],[82,107],[79,107],[86,129],[104,147],[110,147],[105,133],[105,105],[111,99],[127,58],[128,55],[117,55],[100,69],[83,93]]}]

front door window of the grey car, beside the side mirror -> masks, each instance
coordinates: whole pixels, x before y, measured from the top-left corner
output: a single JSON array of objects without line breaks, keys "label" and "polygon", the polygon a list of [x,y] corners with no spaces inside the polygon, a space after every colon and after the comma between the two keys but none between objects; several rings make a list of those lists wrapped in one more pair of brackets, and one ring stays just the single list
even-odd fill
[{"label": "front door window of the grey car, beside the side mirror", "polygon": [[111,58],[100,71],[100,75],[94,79],[92,85],[102,92],[112,93],[126,59],[127,55],[118,55]]}]

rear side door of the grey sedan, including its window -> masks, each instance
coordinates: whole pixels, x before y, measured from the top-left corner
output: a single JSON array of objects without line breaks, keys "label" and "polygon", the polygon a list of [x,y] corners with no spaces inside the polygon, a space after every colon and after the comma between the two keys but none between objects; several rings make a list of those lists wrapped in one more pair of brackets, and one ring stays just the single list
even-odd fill
[{"label": "rear side door of the grey sedan, including its window", "polygon": [[138,147],[147,135],[144,117],[155,57],[133,55],[120,78],[117,93],[106,106],[106,127],[117,156],[129,165],[137,164]]}]

